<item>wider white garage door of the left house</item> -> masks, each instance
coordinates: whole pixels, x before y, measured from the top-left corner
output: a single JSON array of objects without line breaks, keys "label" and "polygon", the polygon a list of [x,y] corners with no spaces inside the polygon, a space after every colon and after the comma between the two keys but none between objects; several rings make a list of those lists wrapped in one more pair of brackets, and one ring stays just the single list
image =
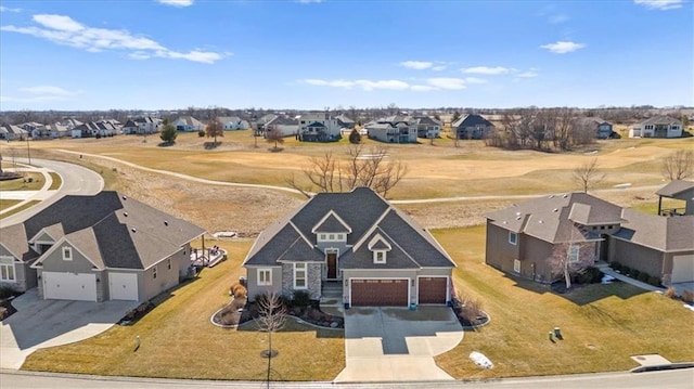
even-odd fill
[{"label": "wider white garage door of the left house", "polygon": [[97,301],[97,276],[43,272],[43,296],[53,300]]}]

